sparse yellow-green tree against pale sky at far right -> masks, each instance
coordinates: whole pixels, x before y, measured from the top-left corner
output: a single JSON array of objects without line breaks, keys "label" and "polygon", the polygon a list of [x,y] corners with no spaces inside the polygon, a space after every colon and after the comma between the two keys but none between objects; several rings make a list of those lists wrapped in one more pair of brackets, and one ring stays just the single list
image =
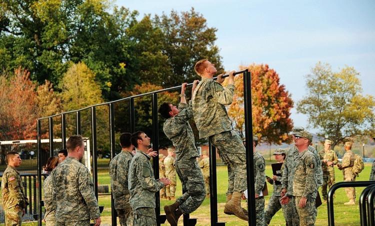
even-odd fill
[{"label": "sparse yellow-green tree against pale sky at far right", "polygon": [[333,72],[328,63],[316,63],[306,76],[307,95],[297,103],[297,111],[308,116],[318,135],[328,135],[332,148],[356,135],[374,132],[375,100],[363,96],[354,67]]}]

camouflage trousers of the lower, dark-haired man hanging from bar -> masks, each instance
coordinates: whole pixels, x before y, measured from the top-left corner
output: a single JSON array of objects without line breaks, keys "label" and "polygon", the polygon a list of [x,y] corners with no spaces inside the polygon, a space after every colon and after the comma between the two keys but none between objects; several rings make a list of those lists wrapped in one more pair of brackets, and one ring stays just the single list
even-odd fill
[{"label": "camouflage trousers of the lower, dark-haired man hanging from bar", "polygon": [[205,197],[203,174],[196,159],[181,159],[175,163],[176,172],[182,183],[182,196],[177,199],[179,209],[188,214],[199,207]]}]

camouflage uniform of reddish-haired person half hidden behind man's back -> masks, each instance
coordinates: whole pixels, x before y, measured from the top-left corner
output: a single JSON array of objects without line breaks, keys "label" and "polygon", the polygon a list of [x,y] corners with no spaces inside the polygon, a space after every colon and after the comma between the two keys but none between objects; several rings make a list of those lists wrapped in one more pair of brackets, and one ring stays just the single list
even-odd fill
[{"label": "camouflage uniform of reddish-haired person half hidden behind man's back", "polygon": [[54,226],[56,224],[56,219],[54,217],[54,214],[56,212],[56,203],[53,201],[53,183],[52,183],[52,176],[47,176],[47,178],[44,179],[43,183],[43,191],[44,191],[44,208],[45,208],[45,214],[44,214],[44,220],[46,226]]}]

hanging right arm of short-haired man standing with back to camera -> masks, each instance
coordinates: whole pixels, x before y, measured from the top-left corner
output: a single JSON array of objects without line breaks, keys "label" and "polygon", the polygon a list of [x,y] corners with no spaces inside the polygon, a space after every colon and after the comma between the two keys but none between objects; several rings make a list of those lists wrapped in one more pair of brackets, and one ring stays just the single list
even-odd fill
[{"label": "hanging right arm of short-haired man standing with back to camera", "polygon": [[100,217],[99,205],[93,191],[93,182],[90,173],[85,166],[81,166],[77,173],[78,188],[87,204],[91,219]]}]

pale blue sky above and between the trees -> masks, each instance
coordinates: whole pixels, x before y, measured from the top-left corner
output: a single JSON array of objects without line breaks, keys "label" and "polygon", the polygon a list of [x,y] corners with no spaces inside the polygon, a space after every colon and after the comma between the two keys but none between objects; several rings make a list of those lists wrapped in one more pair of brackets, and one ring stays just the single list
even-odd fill
[{"label": "pale blue sky above and between the trees", "polygon": [[[139,12],[201,13],[217,28],[215,44],[225,70],[266,63],[296,102],[306,95],[305,75],[318,61],[333,71],[353,66],[363,94],[375,96],[375,1],[373,0],[115,0]],[[307,116],[291,110],[294,125]],[[317,132],[316,129],[311,131]]]}]

